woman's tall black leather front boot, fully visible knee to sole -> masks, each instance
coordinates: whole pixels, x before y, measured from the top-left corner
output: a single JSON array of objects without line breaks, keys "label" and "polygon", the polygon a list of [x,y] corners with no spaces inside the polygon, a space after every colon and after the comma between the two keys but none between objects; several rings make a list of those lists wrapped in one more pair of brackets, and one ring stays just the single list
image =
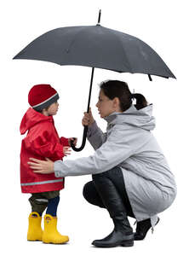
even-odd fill
[{"label": "woman's tall black leather front boot, fully visible knee to sole", "polygon": [[94,185],[114,223],[114,230],[101,240],[94,240],[95,247],[132,247],[134,233],[127,218],[123,201],[112,181],[100,174],[94,175]]}]

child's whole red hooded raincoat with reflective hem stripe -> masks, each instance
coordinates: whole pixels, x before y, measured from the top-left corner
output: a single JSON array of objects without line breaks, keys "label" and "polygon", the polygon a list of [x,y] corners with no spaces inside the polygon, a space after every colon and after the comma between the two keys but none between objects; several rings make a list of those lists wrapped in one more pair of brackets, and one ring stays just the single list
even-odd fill
[{"label": "child's whole red hooded raincoat with reflective hem stripe", "polygon": [[59,137],[52,116],[45,116],[29,108],[20,124],[22,140],[20,151],[20,183],[22,193],[40,193],[64,188],[64,178],[52,174],[38,174],[27,164],[30,157],[38,160],[62,160],[63,146],[69,146],[68,139]]}]

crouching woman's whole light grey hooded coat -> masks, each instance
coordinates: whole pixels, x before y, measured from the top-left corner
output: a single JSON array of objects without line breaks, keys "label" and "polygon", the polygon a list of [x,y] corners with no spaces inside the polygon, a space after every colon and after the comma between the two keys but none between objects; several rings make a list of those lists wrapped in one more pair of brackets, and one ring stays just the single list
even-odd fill
[{"label": "crouching woman's whole light grey hooded coat", "polygon": [[105,118],[106,133],[94,122],[88,139],[95,152],[77,160],[55,161],[56,177],[106,172],[119,166],[125,189],[137,221],[151,218],[152,226],[175,200],[175,178],[152,135],[155,119],[152,105],[137,110],[132,105],[123,113]]}]

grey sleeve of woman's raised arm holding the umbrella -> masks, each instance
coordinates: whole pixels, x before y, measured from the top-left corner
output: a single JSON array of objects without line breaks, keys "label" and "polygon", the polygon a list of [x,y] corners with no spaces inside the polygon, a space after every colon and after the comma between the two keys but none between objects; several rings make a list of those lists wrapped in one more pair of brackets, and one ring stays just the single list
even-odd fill
[{"label": "grey sleeve of woman's raised arm holding the umbrella", "polygon": [[100,146],[106,142],[106,132],[102,132],[96,122],[89,126],[88,134],[87,134],[89,143],[96,150],[100,148]]}]

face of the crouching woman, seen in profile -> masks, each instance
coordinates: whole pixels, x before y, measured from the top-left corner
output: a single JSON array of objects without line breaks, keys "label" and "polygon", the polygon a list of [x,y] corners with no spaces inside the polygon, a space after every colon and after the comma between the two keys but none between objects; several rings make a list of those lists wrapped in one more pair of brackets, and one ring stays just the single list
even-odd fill
[{"label": "face of the crouching woman, seen in profile", "polygon": [[104,95],[103,90],[100,90],[99,101],[96,103],[96,107],[99,110],[100,118],[105,118],[111,113],[117,111],[115,99],[109,99],[107,96]]}]

